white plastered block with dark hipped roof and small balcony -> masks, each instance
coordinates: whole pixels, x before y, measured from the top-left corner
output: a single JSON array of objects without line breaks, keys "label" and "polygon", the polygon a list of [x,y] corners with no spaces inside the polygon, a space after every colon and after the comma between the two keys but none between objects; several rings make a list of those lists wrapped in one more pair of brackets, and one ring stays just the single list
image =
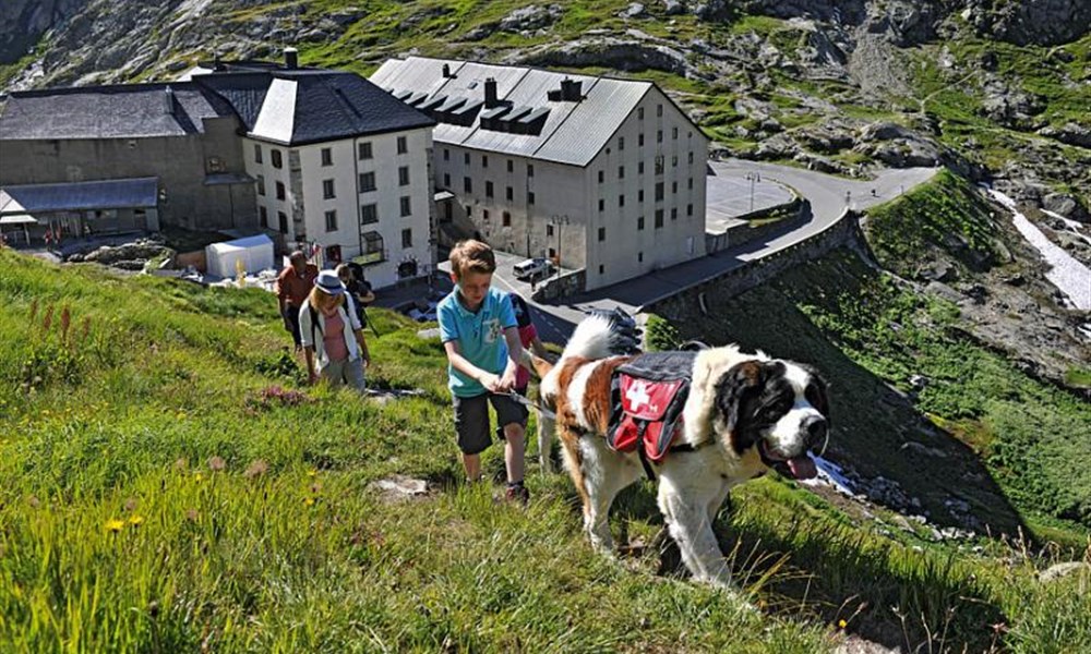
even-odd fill
[{"label": "white plastered block with dark hipped roof and small balcony", "polygon": [[360,263],[375,288],[431,274],[433,121],[353,73],[239,69],[199,78],[247,128],[261,227]]}]

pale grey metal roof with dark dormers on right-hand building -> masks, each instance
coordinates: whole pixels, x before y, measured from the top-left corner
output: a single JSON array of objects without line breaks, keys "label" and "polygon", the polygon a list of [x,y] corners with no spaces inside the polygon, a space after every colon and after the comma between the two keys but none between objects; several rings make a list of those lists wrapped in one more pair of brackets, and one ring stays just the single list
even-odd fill
[{"label": "pale grey metal roof with dark dormers on right-hand building", "polygon": [[[449,66],[452,76],[443,76],[443,65]],[[482,110],[468,126],[440,122],[433,140],[482,150],[519,155],[536,159],[586,166],[632,113],[640,99],[655,85],[635,80],[614,80],[570,75],[524,66],[493,65],[456,60],[410,57],[389,59],[371,76],[376,85],[406,97],[420,93],[429,97],[484,97],[484,81],[496,81],[496,96],[505,102],[507,111],[500,108]],[[561,81],[571,78],[582,83],[579,102],[551,101],[550,90],[560,88]],[[543,110],[548,110],[548,114]],[[544,125],[539,134],[512,134],[481,128],[481,119],[521,118],[541,120]]]}]

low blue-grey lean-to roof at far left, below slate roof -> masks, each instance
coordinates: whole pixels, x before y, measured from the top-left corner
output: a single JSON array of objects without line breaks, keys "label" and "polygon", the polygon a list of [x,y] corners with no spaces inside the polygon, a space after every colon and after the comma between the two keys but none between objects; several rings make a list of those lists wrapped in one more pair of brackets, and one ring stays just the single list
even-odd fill
[{"label": "low blue-grey lean-to roof at far left, below slate roof", "polygon": [[158,178],[61,184],[19,184],[0,189],[0,214],[45,214],[156,206]]}]

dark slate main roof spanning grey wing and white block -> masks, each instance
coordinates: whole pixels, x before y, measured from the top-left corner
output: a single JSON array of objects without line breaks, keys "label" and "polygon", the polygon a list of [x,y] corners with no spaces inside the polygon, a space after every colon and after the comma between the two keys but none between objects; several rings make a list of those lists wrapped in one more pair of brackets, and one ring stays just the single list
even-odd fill
[{"label": "dark slate main roof spanning grey wing and white block", "polygon": [[172,84],[13,93],[0,113],[0,140],[181,136],[203,132],[202,121],[217,117],[237,117],[250,135],[288,145],[434,122],[355,73],[271,68]]}]

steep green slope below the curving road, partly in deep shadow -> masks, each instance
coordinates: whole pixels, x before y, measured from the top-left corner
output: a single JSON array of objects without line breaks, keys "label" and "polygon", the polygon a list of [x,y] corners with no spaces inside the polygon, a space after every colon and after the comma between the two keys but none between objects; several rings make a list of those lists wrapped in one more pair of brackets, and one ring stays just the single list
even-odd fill
[{"label": "steep green slope below the curving road, partly in deep shadow", "polygon": [[[980,195],[945,172],[873,209],[866,231],[878,261],[913,278],[920,262],[935,256],[964,270],[995,262],[991,220]],[[1071,530],[1069,540],[1083,541],[1091,528],[1091,407],[969,340],[958,323],[956,306],[840,251],[723,301],[683,336],[719,335],[818,364],[842,403],[838,422],[853,464],[916,485],[936,518],[954,496],[994,530],[1024,520],[1038,530],[1064,519],[1074,521],[1063,529]],[[915,391],[914,376],[926,379]],[[922,461],[900,449],[907,440],[948,445],[957,456]]]}]

